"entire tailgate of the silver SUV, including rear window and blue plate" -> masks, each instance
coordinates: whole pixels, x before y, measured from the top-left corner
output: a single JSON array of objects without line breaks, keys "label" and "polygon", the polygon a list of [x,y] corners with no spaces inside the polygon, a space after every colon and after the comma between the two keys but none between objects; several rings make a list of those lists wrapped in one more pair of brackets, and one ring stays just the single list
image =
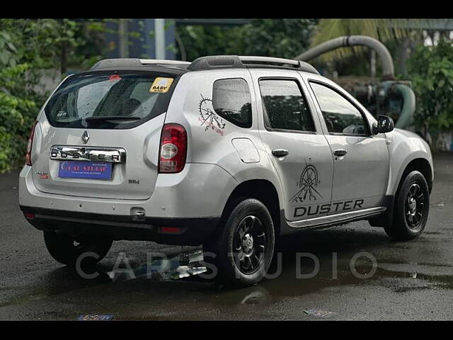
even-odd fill
[{"label": "entire tailgate of the silver SUV, including rear window and blue plate", "polygon": [[170,84],[176,80],[168,74],[96,72],[59,86],[35,128],[36,188],[91,198],[151,197],[161,130],[173,93],[173,89],[151,91],[162,75],[172,79]]}]

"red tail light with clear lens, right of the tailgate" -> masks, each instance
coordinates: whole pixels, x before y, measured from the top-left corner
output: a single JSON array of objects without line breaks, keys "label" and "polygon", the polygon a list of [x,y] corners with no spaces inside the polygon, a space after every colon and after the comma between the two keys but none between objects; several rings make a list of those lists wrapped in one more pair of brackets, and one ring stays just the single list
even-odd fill
[{"label": "red tail light with clear lens, right of the tailgate", "polygon": [[162,129],[159,173],[175,174],[184,169],[187,132],[179,124],[165,124]]}]

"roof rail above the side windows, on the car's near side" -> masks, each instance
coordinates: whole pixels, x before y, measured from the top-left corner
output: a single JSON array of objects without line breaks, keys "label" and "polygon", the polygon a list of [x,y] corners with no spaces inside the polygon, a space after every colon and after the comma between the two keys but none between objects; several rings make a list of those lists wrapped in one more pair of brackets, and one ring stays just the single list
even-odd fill
[{"label": "roof rail above the side windows, on the car's near side", "polygon": [[319,74],[316,69],[306,62],[273,57],[253,57],[238,55],[212,55],[197,58],[187,69],[202,71],[206,69],[244,68],[244,67],[270,67],[297,69],[299,71]]}]

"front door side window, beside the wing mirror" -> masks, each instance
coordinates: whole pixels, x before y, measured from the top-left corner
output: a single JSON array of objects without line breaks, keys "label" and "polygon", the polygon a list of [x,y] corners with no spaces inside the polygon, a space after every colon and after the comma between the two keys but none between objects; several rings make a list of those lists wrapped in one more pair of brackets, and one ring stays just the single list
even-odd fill
[{"label": "front door side window, beside the wing mirror", "polygon": [[369,135],[362,113],[345,97],[327,86],[310,81],[329,133]]}]

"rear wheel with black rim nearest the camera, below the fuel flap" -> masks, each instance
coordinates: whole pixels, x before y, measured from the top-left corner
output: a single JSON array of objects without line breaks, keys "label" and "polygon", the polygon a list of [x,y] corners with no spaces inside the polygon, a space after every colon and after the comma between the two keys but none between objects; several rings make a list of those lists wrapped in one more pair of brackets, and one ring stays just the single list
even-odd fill
[{"label": "rear wheel with black rim nearest the camera, below the fuel flap", "polygon": [[216,279],[234,287],[256,285],[273,259],[275,232],[266,206],[254,198],[226,208],[220,229],[203,244],[205,261],[217,267]]}]

